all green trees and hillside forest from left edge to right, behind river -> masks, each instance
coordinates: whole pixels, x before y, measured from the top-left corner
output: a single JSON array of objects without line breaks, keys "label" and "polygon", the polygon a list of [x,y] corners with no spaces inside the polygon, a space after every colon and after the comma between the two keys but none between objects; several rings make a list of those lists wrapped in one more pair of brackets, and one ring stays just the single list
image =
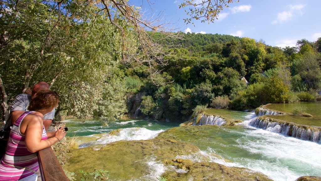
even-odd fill
[{"label": "all green trees and hillside forest from left edge to right, behind river", "polygon": [[[281,49],[248,37],[135,24],[139,10],[125,9],[134,14],[127,16],[120,5],[1,3],[2,120],[15,96],[38,81],[58,92],[57,116],[107,121],[139,107],[154,119],[177,120],[197,106],[245,110],[320,100],[321,38]],[[115,13],[108,16],[109,8]]]}]

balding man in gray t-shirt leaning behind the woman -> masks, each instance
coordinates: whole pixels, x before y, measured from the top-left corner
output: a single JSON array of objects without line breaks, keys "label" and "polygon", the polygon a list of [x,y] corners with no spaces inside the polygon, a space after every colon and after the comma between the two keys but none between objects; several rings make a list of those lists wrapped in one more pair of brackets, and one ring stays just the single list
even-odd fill
[{"label": "balding man in gray t-shirt leaning behind the woman", "polygon": [[[40,91],[40,90],[49,90],[49,84],[44,81],[37,82],[33,85],[31,89],[31,96],[28,94],[19,94],[13,101],[10,114],[11,114],[11,123],[13,124],[26,110],[30,100]],[[45,129],[49,128],[52,120],[55,117],[55,109],[43,116],[43,125]]]}]

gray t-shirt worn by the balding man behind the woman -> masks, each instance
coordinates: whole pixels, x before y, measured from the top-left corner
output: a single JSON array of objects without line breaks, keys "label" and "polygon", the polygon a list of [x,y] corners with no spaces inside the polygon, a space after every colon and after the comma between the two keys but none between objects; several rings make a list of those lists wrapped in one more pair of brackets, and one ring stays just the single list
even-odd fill
[{"label": "gray t-shirt worn by the balding man behind the woman", "polygon": [[[17,95],[17,97],[14,99],[12,105],[11,105],[11,109],[10,111],[14,111],[14,110],[23,110],[23,111],[28,111],[28,106],[30,104],[30,100],[31,100],[31,96],[28,94],[19,94]],[[43,115],[43,119],[54,119],[55,117],[55,108]]]}]

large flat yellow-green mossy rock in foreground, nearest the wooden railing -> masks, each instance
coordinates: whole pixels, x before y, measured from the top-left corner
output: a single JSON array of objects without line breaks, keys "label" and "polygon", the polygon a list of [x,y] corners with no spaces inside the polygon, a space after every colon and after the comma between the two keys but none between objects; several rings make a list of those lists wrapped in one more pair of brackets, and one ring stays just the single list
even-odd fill
[{"label": "large flat yellow-green mossy rock in foreground, nearest the wooden railing", "polygon": [[100,147],[100,149],[91,146],[72,150],[74,156],[68,160],[65,169],[77,174],[77,180],[80,179],[79,170],[93,172],[94,169],[109,171],[110,180],[133,178],[151,180],[145,178],[151,174],[150,162],[159,164],[162,160],[176,159],[178,155],[199,152],[199,149],[192,144],[171,139],[122,140]]}]

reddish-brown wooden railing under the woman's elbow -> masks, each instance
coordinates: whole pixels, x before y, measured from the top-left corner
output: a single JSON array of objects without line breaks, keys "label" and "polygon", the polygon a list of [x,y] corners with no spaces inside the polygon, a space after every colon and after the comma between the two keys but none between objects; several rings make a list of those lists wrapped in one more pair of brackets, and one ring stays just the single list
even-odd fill
[{"label": "reddish-brown wooden railing under the woman's elbow", "polygon": [[38,160],[42,181],[68,181],[51,147],[40,150]]}]

